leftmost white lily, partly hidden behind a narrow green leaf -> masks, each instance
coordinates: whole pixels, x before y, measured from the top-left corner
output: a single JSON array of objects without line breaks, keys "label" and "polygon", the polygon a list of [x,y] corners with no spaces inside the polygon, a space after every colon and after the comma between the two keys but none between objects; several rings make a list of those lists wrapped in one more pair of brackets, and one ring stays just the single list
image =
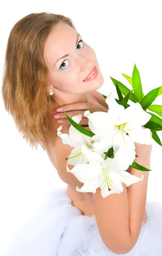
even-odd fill
[{"label": "leftmost white lily, partly hidden behind a narrow green leaf", "polygon": [[[81,118],[81,114],[72,116],[72,120],[74,120],[77,123],[81,121]],[[82,154],[81,146],[84,144],[88,148],[92,148],[91,137],[82,134],[72,125],[70,125],[69,134],[62,134],[61,129],[62,125],[57,129],[57,134],[59,137],[61,137],[62,143],[74,147],[68,157],[67,163],[74,166],[80,163],[87,163],[88,158],[86,157],[86,155]]]}]

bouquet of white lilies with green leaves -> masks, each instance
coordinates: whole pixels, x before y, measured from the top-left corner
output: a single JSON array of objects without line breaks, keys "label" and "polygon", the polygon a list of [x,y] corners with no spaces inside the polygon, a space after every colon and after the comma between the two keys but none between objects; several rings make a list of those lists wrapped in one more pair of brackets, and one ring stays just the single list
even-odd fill
[{"label": "bouquet of white lilies with green leaves", "polygon": [[[136,65],[132,78],[123,76],[130,82],[133,90],[111,78],[119,99],[115,99],[115,94],[110,92],[107,96],[103,95],[108,105],[107,113],[90,110],[84,112],[90,130],[79,125],[81,115],[70,118],[67,114],[71,123],[69,134],[61,133],[62,125],[58,128],[57,134],[62,143],[73,147],[67,164],[74,167],[70,170],[67,165],[67,172],[73,173],[84,183],[81,189],[77,186],[76,191],[95,193],[100,187],[104,198],[123,192],[122,182],[130,186],[144,178],[144,175],[139,178],[127,172],[129,166],[141,171],[151,171],[134,162],[135,157],[138,157],[134,143],[150,145],[155,140],[162,146],[157,135],[157,131],[162,130],[162,119],[159,117],[162,116],[162,106],[151,105],[162,94],[162,86],[144,96]],[[132,105],[127,104],[129,99],[134,102]],[[147,109],[159,116],[147,112]]]}]

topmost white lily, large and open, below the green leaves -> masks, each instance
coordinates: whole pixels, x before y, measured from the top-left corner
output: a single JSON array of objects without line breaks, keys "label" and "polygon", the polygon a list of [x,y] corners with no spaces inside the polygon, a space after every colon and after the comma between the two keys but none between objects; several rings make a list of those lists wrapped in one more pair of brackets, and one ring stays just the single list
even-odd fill
[{"label": "topmost white lily, large and open, below the green leaves", "polygon": [[124,145],[135,149],[134,142],[152,144],[150,129],[141,127],[149,121],[151,115],[138,102],[125,109],[116,102],[112,92],[105,101],[109,106],[107,113],[90,113],[88,110],[84,112],[84,116],[89,119],[90,130],[95,134],[92,137],[92,151],[102,154],[113,147],[115,154]]}]

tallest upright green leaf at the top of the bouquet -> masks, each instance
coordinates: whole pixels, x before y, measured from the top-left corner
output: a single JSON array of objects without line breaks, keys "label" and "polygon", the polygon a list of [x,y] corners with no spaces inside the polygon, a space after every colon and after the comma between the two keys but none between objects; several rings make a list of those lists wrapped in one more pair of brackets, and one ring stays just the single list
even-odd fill
[{"label": "tallest upright green leaf at the top of the bouquet", "polygon": [[136,67],[136,64],[134,64],[133,74],[132,74],[132,85],[133,89],[136,88],[134,91],[134,96],[136,97],[137,102],[141,102],[143,98],[142,94],[142,84],[141,84],[141,78],[139,75],[139,70]]}]

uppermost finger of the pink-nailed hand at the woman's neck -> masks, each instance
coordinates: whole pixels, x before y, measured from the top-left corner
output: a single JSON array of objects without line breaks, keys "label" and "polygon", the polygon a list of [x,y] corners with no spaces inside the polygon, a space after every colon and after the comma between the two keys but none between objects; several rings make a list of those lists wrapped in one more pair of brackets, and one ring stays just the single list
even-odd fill
[{"label": "uppermost finger of the pink-nailed hand at the woman's neck", "polygon": [[[96,103],[95,102],[74,102],[71,104],[60,106],[56,109],[57,112],[67,112],[72,110],[88,110],[94,109]],[[60,110],[60,108],[62,110]]]}]

